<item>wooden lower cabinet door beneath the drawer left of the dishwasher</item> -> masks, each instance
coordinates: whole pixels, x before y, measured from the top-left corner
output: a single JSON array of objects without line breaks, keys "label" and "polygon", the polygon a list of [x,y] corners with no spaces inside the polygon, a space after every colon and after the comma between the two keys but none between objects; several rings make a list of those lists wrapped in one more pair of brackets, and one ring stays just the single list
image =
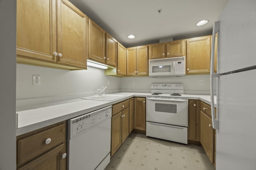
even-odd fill
[{"label": "wooden lower cabinet door beneath the drawer left of the dishwasher", "polygon": [[28,164],[18,168],[17,170],[65,170],[66,161],[63,162],[62,154],[65,153],[63,150],[66,150],[65,145],[62,144],[51,151],[43,154],[39,158],[29,162]]}]

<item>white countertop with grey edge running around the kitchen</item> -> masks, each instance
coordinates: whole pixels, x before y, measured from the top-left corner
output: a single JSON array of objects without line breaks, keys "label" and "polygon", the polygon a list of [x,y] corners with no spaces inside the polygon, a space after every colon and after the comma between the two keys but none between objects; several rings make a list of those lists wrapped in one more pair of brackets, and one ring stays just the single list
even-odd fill
[{"label": "white countertop with grey edge running around the kitchen", "polygon": [[[75,99],[51,104],[20,107],[16,111],[16,136],[110,106],[132,97],[146,97],[149,93],[120,92],[116,95],[126,96],[113,101]],[[186,94],[188,99],[197,99],[210,104],[210,95]],[[216,96],[214,96],[216,104]]]}]

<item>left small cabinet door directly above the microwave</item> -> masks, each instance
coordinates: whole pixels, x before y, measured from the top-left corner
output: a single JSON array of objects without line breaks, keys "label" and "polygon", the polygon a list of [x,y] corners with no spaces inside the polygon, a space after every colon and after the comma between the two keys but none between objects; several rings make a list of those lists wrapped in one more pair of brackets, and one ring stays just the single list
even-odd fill
[{"label": "left small cabinet door directly above the microwave", "polygon": [[164,58],[164,56],[164,43],[152,44],[149,46],[150,59],[161,59]]}]

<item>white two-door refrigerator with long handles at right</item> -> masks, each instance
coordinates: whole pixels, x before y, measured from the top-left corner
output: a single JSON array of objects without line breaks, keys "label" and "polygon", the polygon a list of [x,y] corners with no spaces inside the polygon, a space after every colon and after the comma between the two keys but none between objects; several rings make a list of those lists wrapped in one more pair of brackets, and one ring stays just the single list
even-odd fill
[{"label": "white two-door refrigerator with long handles at right", "polygon": [[214,23],[210,77],[216,170],[256,170],[256,0],[229,0]]}]

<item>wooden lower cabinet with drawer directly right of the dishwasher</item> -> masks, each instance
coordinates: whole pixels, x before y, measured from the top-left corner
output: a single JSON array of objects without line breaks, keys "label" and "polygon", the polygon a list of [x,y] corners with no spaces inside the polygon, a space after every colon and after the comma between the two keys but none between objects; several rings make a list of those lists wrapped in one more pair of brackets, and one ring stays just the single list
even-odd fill
[{"label": "wooden lower cabinet with drawer directly right of the dishwasher", "polygon": [[129,100],[126,100],[112,107],[111,156],[113,156],[122,143],[124,143],[125,139],[130,134],[129,131]]}]

